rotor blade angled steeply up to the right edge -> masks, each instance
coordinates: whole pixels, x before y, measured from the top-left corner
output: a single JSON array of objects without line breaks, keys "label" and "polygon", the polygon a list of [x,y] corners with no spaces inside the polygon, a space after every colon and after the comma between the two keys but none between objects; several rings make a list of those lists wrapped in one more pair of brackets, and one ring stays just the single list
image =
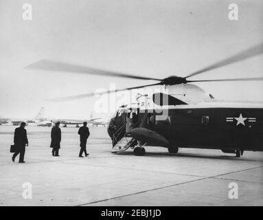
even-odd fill
[{"label": "rotor blade angled steeply up to the right edge", "polygon": [[197,72],[194,72],[192,74],[189,74],[188,76],[185,76],[185,78],[189,78],[191,76],[196,76],[198,74],[203,74],[204,72],[207,72],[212,69],[217,69],[219,67],[224,67],[226,65],[229,65],[231,63],[236,63],[238,61],[243,61],[247,58],[251,58],[253,56],[258,56],[260,54],[263,54],[263,43],[260,45],[256,45],[254,47],[249,48],[248,50],[244,50],[234,56],[231,56],[229,58],[226,58],[218,63],[214,63],[212,65],[209,65],[208,67],[205,67],[203,69],[198,70]]}]

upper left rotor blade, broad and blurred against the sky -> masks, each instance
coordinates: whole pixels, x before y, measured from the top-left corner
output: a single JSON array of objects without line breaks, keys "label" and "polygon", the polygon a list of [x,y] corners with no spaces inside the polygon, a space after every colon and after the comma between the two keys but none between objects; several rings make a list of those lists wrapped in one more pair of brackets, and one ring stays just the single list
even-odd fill
[{"label": "upper left rotor blade, broad and blurred against the sky", "polygon": [[135,78],[140,80],[158,80],[157,78],[150,78],[144,76],[136,76],[133,74],[123,74],[120,72],[107,71],[104,69],[97,69],[86,67],[84,65],[75,65],[71,63],[65,63],[60,61],[52,61],[52,60],[41,60],[36,63],[32,63],[25,67],[25,69],[38,69],[43,71],[53,71],[53,72],[68,72],[68,73],[76,73],[76,74],[91,74],[91,75],[99,75],[99,76],[117,76],[122,78]]}]

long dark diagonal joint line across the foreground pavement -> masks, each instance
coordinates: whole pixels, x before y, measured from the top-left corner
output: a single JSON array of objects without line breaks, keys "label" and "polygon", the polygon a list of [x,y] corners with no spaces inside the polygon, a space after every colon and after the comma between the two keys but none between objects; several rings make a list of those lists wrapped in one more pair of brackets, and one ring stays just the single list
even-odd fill
[{"label": "long dark diagonal joint line across the foreground pavement", "polygon": [[[263,166],[257,166],[257,167],[254,167],[254,168],[247,168],[247,169],[244,169],[244,170],[237,170],[235,172],[231,172],[231,173],[238,173],[238,172],[242,172],[242,171],[246,171],[246,170],[252,170],[252,169],[255,169],[255,168],[261,168]],[[222,174],[222,175],[227,175],[227,174],[231,174],[231,173],[226,173],[226,174]],[[89,205],[89,204],[93,204],[93,203],[100,203],[102,201],[109,201],[109,200],[113,200],[113,199],[119,199],[119,198],[123,198],[123,197],[129,197],[129,196],[132,196],[132,195],[139,195],[139,194],[142,194],[142,193],[145,193],[145,192],[150,192],[150,191],[155,191],[155,190],[161,190],[163,188],[170,188],[172,186],[180,186],[180,185],[183,185],[183,184],[190,184],[192,182],[195,182],[195,181],[201,181],[201,180],[205,180],[205,179],[218,179],[216,177],[218,176],[221,176],[221,175],[215,175],[215,176],[211,176],[211,177],[205,177],[205,178],[201,178],[201,179],[194,179],[194,180],[191,180],[191,181],[185,181],[183,183],[180,183],[180,184],[172,184],[172,185],[169,185],[169,186],[163,186],[163,187],[159,187],[159,188],[153,188],[153,189],[150,189],[150,190],[144,190],[144,191],[140,191],[140,192],[135,192],[135,193],[130,193],[130,194],[127,194],[127,195],[122,195],[122,196],[119,196],[119,197],[112,197],[112,198],[109,198],[109,199],[102,199],[100,201],[92,201],[90,203],[84,203],[84,204],[80,204],[78,206],[86,206],[86,205]],[[220,179],[220,178],[219,178]]]}]

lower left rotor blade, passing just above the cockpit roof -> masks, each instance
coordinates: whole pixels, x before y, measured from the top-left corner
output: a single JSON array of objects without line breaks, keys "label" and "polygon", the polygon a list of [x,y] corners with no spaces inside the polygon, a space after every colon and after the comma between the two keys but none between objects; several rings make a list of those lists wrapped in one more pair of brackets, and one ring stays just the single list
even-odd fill
[{"label": "lower left rotor blade, passing just above the cockpit roof", "polygon": [[98,92],[98,93],[80,94],[80,95],[76,95],[76,96],[66,96],[66,97],[61,97],[61,98],[52,98],[52,99],[49,99],[47,101],[66,102],[66,101],[70,101],[70,100],[77,100],[77,99],[80,99],[80,98],[92,97],[92,96],[95,96],[95,94],[98,94],[98,95],[110,94],[110,93],[117,92],[117,91],[125,91],[125,90],[130,90],[130,89],[140,89],[140,88],[151,87],[151,86],[155,86],[155,85],[161,85],[161,83],[155,83],[155,84],[150,84],[150,85],[141,85],[141,86],[138,86],[138,87],[130,87],[130,88],[126,88],[126,89],[116,89],[116,90],[111,90],[111,91],[102,91],[102,92]]}]

